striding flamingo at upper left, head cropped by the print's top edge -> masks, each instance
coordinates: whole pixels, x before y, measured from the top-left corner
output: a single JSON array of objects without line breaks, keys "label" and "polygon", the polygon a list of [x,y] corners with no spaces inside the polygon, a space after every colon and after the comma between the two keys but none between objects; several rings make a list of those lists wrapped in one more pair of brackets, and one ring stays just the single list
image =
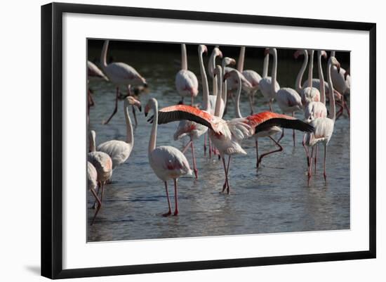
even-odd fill
[{"label": "striding flamingo at upper left, head cropped by the print's top edge", "polygon": [[[102,65],[102,70],[105,72],[109,80],[116,86],[116,95],[115,95],[115,108],[112,112],[112,115],[103,122],[103,124],[109,123],[112,117],[117,113],[118,109],[118,98],[119,98],[119,87],[127,87],[129,95],[131,95],[131,86],[144,86],[147,87],[146,79],[143,78],[133,67],[127,65],[126,63],[106,63],[107,57],[107,48],[109,46],[109,40],[105,40],[103,44],[102,53],[100,55],[100,65]],[[137,117],[135,115],[135,110],[133,108],[133,115],[135,120],[135,126],[138,124]]]}]

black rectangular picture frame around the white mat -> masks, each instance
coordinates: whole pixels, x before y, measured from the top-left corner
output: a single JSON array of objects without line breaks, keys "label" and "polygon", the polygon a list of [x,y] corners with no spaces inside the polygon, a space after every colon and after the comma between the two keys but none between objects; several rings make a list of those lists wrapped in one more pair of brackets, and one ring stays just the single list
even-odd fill
[{"label": "black rectangular picture frame around the white mat", "polygon": [[[125,15],[145,18],[168,18],[291,27],[319,27],[369,32],[370,70],[370,155],[369,155],[369,248],[366,251],[334,252],[279,257],[249,257],[195,262],[138,264],[86,269],[62,268],[62,15],[84,13]],[[326,262],[345,259],[369,259],[376,255],[376,25],[375,23],[279,18],[260,15],[236,15],[154,8],[96,6],[52,3],[41,6],[41,275],[48,278],[74,278],[142,274],[227,267],[253,267],[269,264]]]}]

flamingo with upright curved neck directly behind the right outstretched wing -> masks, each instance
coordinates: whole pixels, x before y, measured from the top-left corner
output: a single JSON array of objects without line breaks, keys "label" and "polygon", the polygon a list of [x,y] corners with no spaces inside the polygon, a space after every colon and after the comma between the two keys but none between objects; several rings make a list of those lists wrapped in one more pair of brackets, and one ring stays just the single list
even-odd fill
[{"label": "flamingo with upright curved neck directly behind the right outstretched wing", "polygon": [[[272,67],[272,81],[274,83],[271,83],[271,93],[273,94],[273,97],[277,100],[277,104],[279,105],[281,111],[283,113],[292,113],[292,116],[294,117],[294,112],[302,109],[302,99],[300,98],[300,95],[295,89],[289,87],[277,89],[274,86],[277,82],[277,49],[270,48],[267,49],[267,51],[269,53],[272,53],[272,56],[274,57],[274,66]],[[300,69],[300,72],[302,72],[302,68]],[[283,138],[283,136],[284,129],[281,132],[279,141]],[[292,137],[293,146],[295,146],[295,129],[293,129]]]}]

